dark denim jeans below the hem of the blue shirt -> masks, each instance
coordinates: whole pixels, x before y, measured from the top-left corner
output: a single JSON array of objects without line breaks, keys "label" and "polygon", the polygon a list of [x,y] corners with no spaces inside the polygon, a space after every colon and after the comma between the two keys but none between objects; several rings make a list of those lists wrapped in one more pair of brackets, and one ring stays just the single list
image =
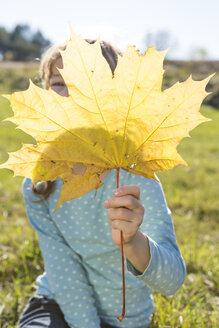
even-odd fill
[{"label": "dark denim jeans below the hem of the blue shirt", "polygon": [[[19,320],[20,328],[69,328],[58,304],[43,296],[30,298]],[[89,328],[89,323],[88,323]],[[114,328],[101,322],[101,328]]]}]

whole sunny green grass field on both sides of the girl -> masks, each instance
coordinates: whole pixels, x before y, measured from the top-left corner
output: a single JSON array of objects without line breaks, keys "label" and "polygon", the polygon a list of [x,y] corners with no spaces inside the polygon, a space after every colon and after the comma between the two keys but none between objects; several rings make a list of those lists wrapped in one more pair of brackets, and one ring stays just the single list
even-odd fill
[{"label": "whole sunny green grass field on both sides of the girl", "polygon": [[[154,294],[152,328],[218,327],[219,111],[203,107],[202,113],[212,121],[201,124],[178,148],[189,167],[178,166],[159,174],[173,213],[187,277],[173,297]],[[0,120],[10,114],[7,101],[0,97]],[[31,141],[13,124],[1,122],[0,162],[7,159],[7,151]],[[43,271],[36,234],[26,218],[21,183],[22,178],[0,170],[1,328],[15,327],[34,293],[35,278]]]}]

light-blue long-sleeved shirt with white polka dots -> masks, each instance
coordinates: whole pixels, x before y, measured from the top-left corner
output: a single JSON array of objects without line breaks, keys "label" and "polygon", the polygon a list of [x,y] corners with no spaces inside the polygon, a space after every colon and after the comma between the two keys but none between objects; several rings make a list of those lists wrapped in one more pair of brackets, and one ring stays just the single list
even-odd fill
[{"label": "light-blue long-sleeved shirt with white polka dots", "polygon": [[152,291],[174,294],[185,279],[185,264],[177,246],[171,213],[161,184],[120,171],[120,186],[138,185],[145,208],[142,233],[149,239],[151,259],[143,273],[125,259],[126,314],[122,322],[120,248],[112,242],[105,200],[116,189],[116,170],[104,185],[67,201],[54,213],[62,180],[47,200],[32,192],[24,179],[23,195],[30,224],[38,234],[45,271],[36,295],[54,299],[74,328],[98,328],[100,319],[114,327],[146,328],[154,311]]}]

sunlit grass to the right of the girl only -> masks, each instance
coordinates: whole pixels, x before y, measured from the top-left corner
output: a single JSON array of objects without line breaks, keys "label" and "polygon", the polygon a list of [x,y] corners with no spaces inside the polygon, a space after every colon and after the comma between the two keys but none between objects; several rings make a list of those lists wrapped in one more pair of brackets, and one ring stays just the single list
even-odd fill
[{"label": "sunlit grass to the right of the girl only", "polygon": [[218,327],[219,111],[203,107],[202,113],[212,121],[178,147],[189,167],[159,174],[187,277],[174,297],[155,294],[152,327]]}]

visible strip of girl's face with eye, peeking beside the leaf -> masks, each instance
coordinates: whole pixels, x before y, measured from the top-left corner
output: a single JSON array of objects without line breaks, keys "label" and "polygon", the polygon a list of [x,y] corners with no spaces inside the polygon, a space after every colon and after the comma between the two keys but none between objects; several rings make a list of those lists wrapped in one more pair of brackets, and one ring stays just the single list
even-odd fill
[{"label": "visible strip of girl's face with eye, peeking beside the leaf", "polygon": [[58,58],[52,65],[52,75],[50,78],[50,87],[53,91],[58,93],[60,96],[68,97],[68,88],[63,80],[61,74],[57,70],[63,68],[62,58]]}]

